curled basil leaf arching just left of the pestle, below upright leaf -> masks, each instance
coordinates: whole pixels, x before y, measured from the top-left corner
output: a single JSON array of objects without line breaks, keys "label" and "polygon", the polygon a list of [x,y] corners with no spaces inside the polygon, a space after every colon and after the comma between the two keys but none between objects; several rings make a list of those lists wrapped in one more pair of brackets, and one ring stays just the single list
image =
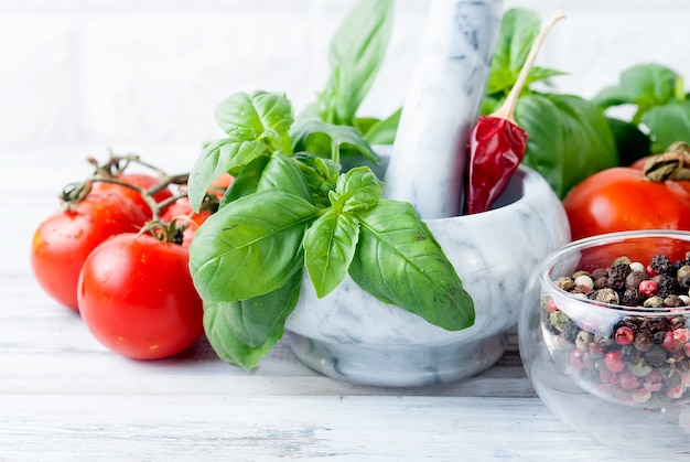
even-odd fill
[{"label": "curled basil leaf arching just left of the pestle, below upright leaf", "polygon": [[338,126],[317,118],[300,119],[290,132],[293,151],[308,151],[339,162],[343,147],[352,147],[355,152],[373,162],[378,157],[354,127]]}]

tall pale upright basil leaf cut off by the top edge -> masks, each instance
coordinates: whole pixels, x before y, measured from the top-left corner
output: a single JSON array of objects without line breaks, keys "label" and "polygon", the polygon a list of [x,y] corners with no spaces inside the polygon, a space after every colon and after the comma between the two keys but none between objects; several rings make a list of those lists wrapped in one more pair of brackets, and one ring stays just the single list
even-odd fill
[{"label": "tall pale upright basil leaf cut off by the top edge", "polygon": [[352,126],[371,88],[392,33],[393,0],[359,0],[330,45],[331,77],[316,112],[332,123]]}]

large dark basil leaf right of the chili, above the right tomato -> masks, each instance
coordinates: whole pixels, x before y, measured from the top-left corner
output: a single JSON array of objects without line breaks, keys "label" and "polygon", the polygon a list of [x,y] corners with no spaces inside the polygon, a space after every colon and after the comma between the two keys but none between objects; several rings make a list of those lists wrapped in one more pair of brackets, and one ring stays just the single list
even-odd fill
[{"label": "large dark basil leaf right of the chili, above the right tomato", "polygon": [[517,122],[529,133],[522,162],[541,173],[562,198],[593,173],[618,164],[603,110],[573,95],[529,95],[518,100]]}]

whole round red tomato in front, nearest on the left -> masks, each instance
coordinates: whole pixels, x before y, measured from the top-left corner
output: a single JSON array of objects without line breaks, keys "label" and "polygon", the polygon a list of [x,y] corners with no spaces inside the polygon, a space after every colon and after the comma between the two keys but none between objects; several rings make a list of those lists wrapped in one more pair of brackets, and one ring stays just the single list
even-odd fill
[{"label": "whole round red tomato in front, nearest on the left", "polygon": [[134,359],[176,355],[204,332],[188,249],[147,234],[121,234],[94,249],[79,276],[78,304],[101,344]]}]

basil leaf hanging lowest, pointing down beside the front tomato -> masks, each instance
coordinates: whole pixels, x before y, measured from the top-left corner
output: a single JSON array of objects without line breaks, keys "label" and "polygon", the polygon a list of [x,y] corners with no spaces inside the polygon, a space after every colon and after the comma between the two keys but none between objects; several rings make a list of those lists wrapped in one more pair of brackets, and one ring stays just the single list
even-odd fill
[{"label": "basil leaf hanging lowest, pointing down beside the front tomato", "polygon": [[204,302],[204,331],[216,355],[251,370],[285,331],[285,320],[297,307],[302,271],[283,287],[249,300]]}]

